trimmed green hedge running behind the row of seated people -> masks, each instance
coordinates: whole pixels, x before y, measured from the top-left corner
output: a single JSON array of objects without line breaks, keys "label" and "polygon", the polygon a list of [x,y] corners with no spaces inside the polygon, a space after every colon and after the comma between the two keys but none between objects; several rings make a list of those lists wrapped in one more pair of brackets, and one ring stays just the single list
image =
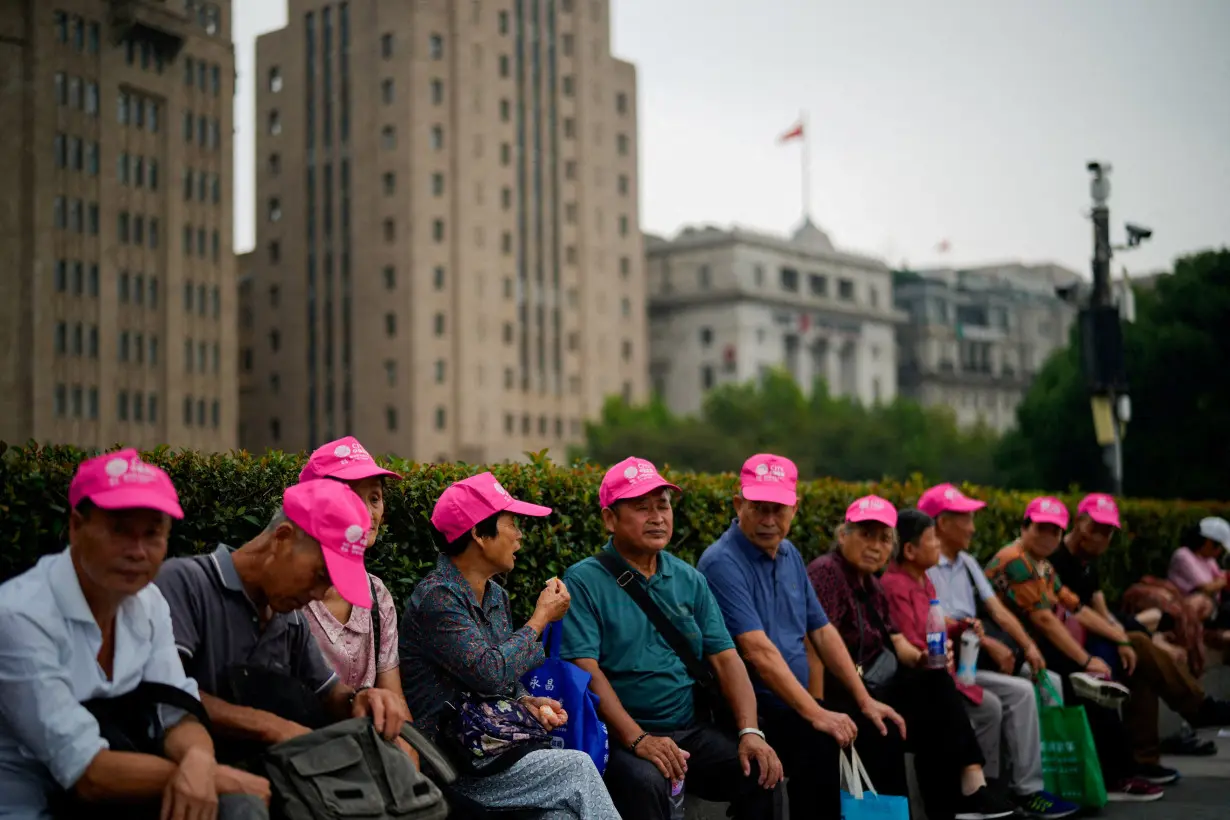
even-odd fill
[{"label": "trimmed green hedge running behind the row of seated people", "polygon": [[[69,446],[11,447],[0,443],[0,580],[23,572],[39,556],[63,548],[69,481],[82,457],[84,452]],[[161,447],[145,457],[164,467],[180,491],[186,518],[172,531],[170,552],[182,556],[209,551],[220,541],[240,546],[257,535],[279,503],[283,488],[298,481],[306,456],[202,454]],[[435,563],[429,522],[435,499],[449,483],[483,467],[418,465],[396,459],[385,463],[405,478],[387,488],[385,522],[379,542],[369,553],[369,566],[400,605]],[[528,616],[547,578],[562,574],[605,543],[598,514],[598,484],[604,468],[560,467],[539,454],[531,455],[529,463],[496,465],[490,470],[513,495],[555,508],[546,519],[522,521],[525,540],[517,570],[507,579],[514,609]],[[664,475],[684,488],[675,504],[672,551],[695,563],[701,551],[729,525],[736,476],[669,470]],[[926,487],[918,476],[907,482],[801,482],[800,511],[791,540],[811,559],[828,548],[834,527],[855,498],[873,492],[894,504],[911,505]],[[983,487],[966,487],[964,492],[988,503],[977,516],[974,538],[974,552],[985,558],[1015,537],[1031,494]],[[1080,494],[1066,493],[1061,498],[1075,511]],[[1145,573],[1165,573],[1180,531],[1205,515],[1226,516],[1230,504],[1127,499],[1121,513],[1125,530],[1116,537],[1102,567],[1108,591],[1122,590]]]}]

